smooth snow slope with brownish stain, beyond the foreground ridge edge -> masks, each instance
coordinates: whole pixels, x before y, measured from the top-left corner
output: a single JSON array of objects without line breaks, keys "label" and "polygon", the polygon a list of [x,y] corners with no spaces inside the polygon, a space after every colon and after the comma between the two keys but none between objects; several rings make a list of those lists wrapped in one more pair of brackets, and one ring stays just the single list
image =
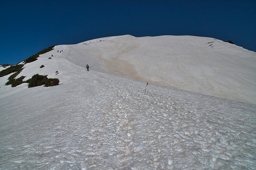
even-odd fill
[{"label": "smooth snow slope with brownish stain, beyond the foreground ridge edge", "polygon": [[91,70],[256,104],[256,53],[214,38],[124,35],[62,48]]}]

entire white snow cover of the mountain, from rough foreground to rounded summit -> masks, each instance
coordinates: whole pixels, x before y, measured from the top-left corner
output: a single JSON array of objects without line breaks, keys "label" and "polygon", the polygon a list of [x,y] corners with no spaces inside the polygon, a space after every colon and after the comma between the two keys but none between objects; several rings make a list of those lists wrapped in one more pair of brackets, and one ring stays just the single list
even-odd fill
[{"label": "entire white snow cover of the mountain, from rough foreground to rounded summit", "polygon": [[[180,57],[158,53],[164,40],[162,51],[169,43]],[[201,58],[179,51],[183,41]],[[60,85],[11,87],[10,75],[0,78],[0,169],[256,169],[254,52],[212,38],[126,35],[55,46],[17,77],[36,73]],[[168,87],[179,83],[247,103]]]}]

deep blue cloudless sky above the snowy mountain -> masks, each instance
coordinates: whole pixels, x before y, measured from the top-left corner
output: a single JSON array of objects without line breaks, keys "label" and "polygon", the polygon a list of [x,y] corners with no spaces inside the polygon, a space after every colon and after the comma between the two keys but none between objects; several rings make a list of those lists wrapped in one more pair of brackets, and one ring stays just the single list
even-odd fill
[{"label": "deep blue cloudless sky above the snowy mountain", "polygon": [[1,1],[0,64],[101,37],[194,35],[256,51],[255,0]]}]

